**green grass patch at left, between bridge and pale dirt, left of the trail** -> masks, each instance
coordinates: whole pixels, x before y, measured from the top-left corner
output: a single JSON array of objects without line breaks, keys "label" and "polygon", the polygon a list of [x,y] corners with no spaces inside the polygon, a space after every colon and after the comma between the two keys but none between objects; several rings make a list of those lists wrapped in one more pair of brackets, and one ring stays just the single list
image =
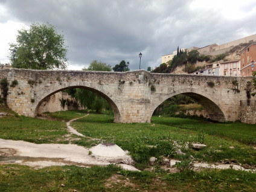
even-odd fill
[{"label": "green grass patch at left, between bridge and pale dirt, left of the trail", "polygon": [[0,138],[40,143],[63,143],[62,136],[68,134],[66,124],[29,117],[6,117],[0,119]]}]

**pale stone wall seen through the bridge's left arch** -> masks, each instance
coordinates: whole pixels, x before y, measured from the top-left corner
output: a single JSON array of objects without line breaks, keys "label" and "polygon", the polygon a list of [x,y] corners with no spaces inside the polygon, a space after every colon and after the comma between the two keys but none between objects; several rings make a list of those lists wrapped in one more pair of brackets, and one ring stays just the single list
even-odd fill
[{"label": "pale stone wall seen through the bridge's left arch", "polygon": [[[72,103],[77,103],[77,106],[70,104],[69,106],[65,104],[62,106],[61,100],[69,100]],[[43,101],[38,109],[38,114],[43,114],[44,112],[56,112],[62,110],[81,110],[83,107],[80,107],[78,101],[75,98],[72,98],[71,95],[68,95],[66,92],[57,92],[51,97],[48,97],[45,101]]]}]

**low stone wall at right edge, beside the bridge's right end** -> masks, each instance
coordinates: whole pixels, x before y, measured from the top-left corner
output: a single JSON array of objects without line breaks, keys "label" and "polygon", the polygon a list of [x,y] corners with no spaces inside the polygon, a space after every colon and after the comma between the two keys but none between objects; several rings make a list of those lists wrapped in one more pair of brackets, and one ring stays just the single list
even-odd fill
[{"label": "low stone wall at right edge, beside the bridge's right end", "polygon": [[256,106],[241,106],[238,120],[242,123],[256,124]]}]

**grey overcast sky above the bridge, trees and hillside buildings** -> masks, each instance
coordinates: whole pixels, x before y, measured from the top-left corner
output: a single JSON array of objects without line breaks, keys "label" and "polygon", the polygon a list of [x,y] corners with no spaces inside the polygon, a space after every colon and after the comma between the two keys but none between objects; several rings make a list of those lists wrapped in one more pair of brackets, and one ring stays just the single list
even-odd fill
[{"label": "grey overcast sky above the bridge, trees and hillside buildings", "polygon": [[92,60],[129,68],[161,64],[179,48],[221,45],[256,33],[255,0],[0,0],[0,62],[8,63],[8,43],[34,22],[49,22],[68,46],[68,69]]}]

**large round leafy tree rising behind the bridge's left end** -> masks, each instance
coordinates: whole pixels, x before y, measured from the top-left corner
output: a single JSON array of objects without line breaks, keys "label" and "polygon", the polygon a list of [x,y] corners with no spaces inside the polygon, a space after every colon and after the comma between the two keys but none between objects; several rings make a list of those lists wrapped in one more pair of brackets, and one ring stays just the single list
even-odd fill
[{"label": "large round leafy tree rising behind the bridge's left end", "polygon": [[27,30],[18,31],[16,43],[10,43],[10,60],[13,63],[13,51],[16,50],[15,68],[65,69],[68,65],[67,46],[62,34],[50,24],[32,24]]}]

